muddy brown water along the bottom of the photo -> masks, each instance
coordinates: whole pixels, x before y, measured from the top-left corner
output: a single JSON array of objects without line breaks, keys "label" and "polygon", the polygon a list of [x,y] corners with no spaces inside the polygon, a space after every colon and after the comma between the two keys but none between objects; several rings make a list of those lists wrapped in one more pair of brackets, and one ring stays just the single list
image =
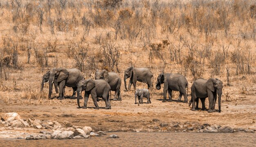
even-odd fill
[{"label": "muddy brown water along the bottom of the photo", "polygon": [[[120,138],[107,138],[117,134]],[[197,147],[255,147],[256,133],[135,133],[115,132],[107,136],[72,140],[25,140],[0,139],[1,147],[43,146],[43,147],[166,147],[166,146],[197,146]]]}]

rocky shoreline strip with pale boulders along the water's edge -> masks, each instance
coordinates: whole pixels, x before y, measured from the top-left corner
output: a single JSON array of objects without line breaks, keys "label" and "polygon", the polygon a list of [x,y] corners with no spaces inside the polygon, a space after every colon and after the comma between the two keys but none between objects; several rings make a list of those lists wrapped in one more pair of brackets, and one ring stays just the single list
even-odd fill
[{"label": "rocky shoreline strip with pale boulders along the water's edge", "polygon": [[[147,124],[148,125],[148,124]],[[105,132],[103,132],[105,131]],[[202,132],[202,133],[234,133],[250,132],[256,129],[232,128],[218,124],[198,123],[198,122],[161,122],[158,119],[149,121],[146,129],[117,128],[99,130],[97,133],[89,126],[75,126],[69,121],[59,123],[57,121],[43,120],[36,118],[22,119],[15,112],[6,113],[0,120],[0,138],[18,139],[82,139],[95,136],[106,136],[106,132]],[[109,138],[119,138],[112,134]]]}]

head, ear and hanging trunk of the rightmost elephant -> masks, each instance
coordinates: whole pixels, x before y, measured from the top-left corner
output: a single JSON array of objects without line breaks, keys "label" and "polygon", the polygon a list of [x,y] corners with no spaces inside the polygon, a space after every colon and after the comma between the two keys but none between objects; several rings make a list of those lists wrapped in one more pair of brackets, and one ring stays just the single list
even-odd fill
[{"label": "head, ear and hanging trunk of the rightmost elephant", "polygon": [[218,94],[218,106],[219,106],[219,112],[220,110],[220,103],[221,103],[221,95],[222,95],[222,81],[220,81],[220,79],[213,79],[210,78],[207,82],[206,82],[206,87],[211,90],[212,92],[215,92],[216,94]]}]

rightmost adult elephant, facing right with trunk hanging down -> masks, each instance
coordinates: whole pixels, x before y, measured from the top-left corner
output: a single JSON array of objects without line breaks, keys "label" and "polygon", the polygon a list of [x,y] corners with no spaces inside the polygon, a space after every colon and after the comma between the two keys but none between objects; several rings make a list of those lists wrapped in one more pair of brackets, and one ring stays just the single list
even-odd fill
[{"label": "rightmost adult elephant, facing right with trunk hanging down", "polygon": [[[192,111],[198,109],[198,99],[202,102],[202,110],[206,110],[205,108],[205,99],[208,97],[209,99],[209,109],[208,112],[216,112],[215,110],[215,103],[217,101],[217,94],[218,94],[218,106],[220,109],[221,103],[221,95],[222,95],[222,81],[220,79],[203,79],[199,78],[196,79],[191,86],[191,100],[189,101],[189,106],[191,105],[192,101]],[[195,107],[195,102],[197,103],[197,107]]]}]

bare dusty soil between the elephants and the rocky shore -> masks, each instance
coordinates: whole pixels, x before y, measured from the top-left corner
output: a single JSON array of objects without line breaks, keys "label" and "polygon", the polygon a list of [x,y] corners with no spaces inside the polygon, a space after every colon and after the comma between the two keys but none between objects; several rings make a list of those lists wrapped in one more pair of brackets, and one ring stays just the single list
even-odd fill
[{"label": "bare dusty soil between the elephants and the rocky shore", "polygon": [[[71,89],[71,88],[69,88]],[[67,90],[70,93],[71,90]],[[90,126],[95,131],[168,131],[166,127],[159,127],[160,123],[170,122],[199,122],[209,124],[228,125],[230,127],[256,128],[256,92],[255,86],[247,88],[246,92],[239,92],[236,87],[224,87],[222,96],[222,112],[208,113],[207,111],[191,111],[187,103],[162,103],[162,89],[151,92],[151,104],[135,104],[134,91],[122,92],[122,101],[111,101],[112,109],[105,110],[104,101],[99,101],[99,110],[94,110],[92,99],[88,100],[88,109],[77,108],[76,100],[64,99],[65,103],[43,104],[15,104],[0,100],[0,116],[7,112],[17,112],[24,119],[37,118],[62,123],[67,120],[74,125]],[[231,98],[225,93],[229,91]],[[113,94],[113,93],[112,93]],[[176,94],[177,95],[177,94]],[[175,94],[174,94],[175,96]],[[113,96],[112,96],[113,97]],[[177,98],[173,98],[176,100]],[[183,99],[183,98],[182,98]],[[191,97],[189,96],[189,99]],[[226,100],[225,100],[226,99]],[[49,100],[58,101],[58,100]],[[146,99],[144,100],[144,102]],[[83,100],[80,101],[83,105]],[[206,104],[208,101],[206,101]],[[218,104],[216,104],[218,105]],[[200,107],[200,105],[199,105]],[[159,122],[152,123],[153,119]]]}]

